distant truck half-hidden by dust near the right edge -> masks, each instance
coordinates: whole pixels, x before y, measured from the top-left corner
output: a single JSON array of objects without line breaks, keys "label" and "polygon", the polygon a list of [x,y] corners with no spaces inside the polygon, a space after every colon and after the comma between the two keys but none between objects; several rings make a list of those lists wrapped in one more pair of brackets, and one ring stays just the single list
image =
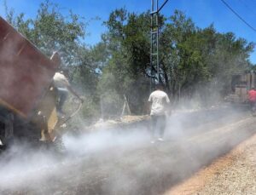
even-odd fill
[{"label": "distant truck half-hidden by dust near the right edge", "polygon": [[247,103],[247,93],[256,87],[256,72],[247,71],[241,74],[232,75],[231,91],[225,100],[234,103]]}]

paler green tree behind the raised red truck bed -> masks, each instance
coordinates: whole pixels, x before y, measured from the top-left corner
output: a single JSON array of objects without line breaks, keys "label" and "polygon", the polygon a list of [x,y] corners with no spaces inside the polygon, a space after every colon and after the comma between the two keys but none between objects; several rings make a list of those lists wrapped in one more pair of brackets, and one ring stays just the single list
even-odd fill
[{"label": "paler green tree behind the raised red truck bed", "polygon": [[[62,14],[59,6],[48,0],[40,4],[33,19],[26,19],[24,13],[16,15],[14,9],[8,9],[6,3],[5,7],[9,23],[44,54],[50,57],[54,51],[58,51],[61,66],[69,69],[71,83],[79,90],[79,94],[86,96],[84,110],[89,111],[86,116],[96,113],[97,64],[92,49],[84,44],[87,26],[84,18],[72,11]],[[91,104],[91,100],[95,104]]]}]

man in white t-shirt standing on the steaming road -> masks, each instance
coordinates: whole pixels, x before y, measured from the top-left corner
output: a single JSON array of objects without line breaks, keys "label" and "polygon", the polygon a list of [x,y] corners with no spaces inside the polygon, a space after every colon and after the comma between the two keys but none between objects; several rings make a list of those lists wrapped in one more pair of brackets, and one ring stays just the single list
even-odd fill
[{"label": "man in white t-shirt standing on the steaming road", "polygon": [[156,90],[154,90],[148,98],[148,102],[151,104],[151,143],[154,143],[155,138],[158,138],[158,141],[163,141],[163,135],[166,129],[166,108],[170,103],[168,95],[163,91],[163,86],[161,84],[156,84],[155,88]]}]

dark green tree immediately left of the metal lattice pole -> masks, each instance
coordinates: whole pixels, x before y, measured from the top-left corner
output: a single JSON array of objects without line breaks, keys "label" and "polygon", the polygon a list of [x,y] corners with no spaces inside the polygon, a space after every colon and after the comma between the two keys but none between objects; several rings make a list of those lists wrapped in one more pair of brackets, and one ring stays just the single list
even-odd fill
[{"label": "dark green tree immediately left of the metal lattice pole", "polygon": [[106,86],[106,77],[113,77],[113,83],[108,83],[108,88],[103,89],[116,91],[120,102],[124,102],[126,95],[133,113],[143,112],[144,101],[149,93],[146,72],[150,49],[149,23],[149,12],[134,14],[127,13],[125,9],[114,10],[108,21],[104,22],[108,27],[108,32],[103,36],[108,60],[102,69],[99,89],[102,89],[102,85]]}]

